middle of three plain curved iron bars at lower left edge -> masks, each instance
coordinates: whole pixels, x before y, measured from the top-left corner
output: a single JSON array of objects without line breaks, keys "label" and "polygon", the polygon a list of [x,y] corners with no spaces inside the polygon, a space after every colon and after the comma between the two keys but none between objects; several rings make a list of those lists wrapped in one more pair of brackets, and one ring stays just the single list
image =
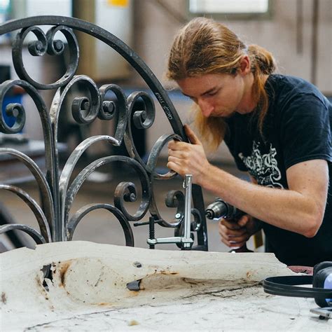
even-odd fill
[{"label": "middle of three plain curved iron bars at lower left edge", "polygon": [[26,193],[25,191],[16,186],[11,186],[10,184],[0,184],[0,189],[4,189],[6,191],[11,191],[11,193],[15,193],[15,195],[17,195],[25,203],[27,203],[27,205],[32,210],[34,216],[37,219],[39,228],[41,230],[41,235],[43,235],[43,237],[46,239],[46,242],[52,242],[48,221],[46,220],[46,216],[43,213],[41,207],[39,207],[38,203],[32,197],[30,197],[28,193]]}]

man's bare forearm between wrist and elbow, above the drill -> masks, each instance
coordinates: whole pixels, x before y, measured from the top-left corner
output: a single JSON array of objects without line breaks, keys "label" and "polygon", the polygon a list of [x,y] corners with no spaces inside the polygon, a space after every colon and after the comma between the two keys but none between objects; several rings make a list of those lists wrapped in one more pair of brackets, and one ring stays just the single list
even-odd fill
[{"label": "man's bare forearm between wrist and elbow, above the drill", "polygon": [[251,184],[209,166],[200,185],[256,219],[307,237],[317,232],[317,209],[312,198],[291,190]]}]

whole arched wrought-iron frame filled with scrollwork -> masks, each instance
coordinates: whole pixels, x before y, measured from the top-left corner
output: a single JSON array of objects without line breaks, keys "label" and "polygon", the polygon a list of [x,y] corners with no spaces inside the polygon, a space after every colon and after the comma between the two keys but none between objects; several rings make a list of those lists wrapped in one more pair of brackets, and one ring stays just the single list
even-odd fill
[{"label": "whole arched wrought-iron frame filled with scrollwork", "polygon": [[[50,27],[45,34],[39,27],[41,25],[51,25],[52,27]],[[107,84],[98,88],[95,82],[88,76],[75,76],[78,66],[79,47],[73,29],[84,32],[85,34],[90,34],[122,55],[144,79],[165,112],[167,119],[170,121],[174,133],[164,134],[155,142],[155,146],[153,146],[146,164],[141,160],[135,148],[131,123],[140,129],[147,129],[153,125],[155,118],[153,99],[148,93],[141,91],[133,92],[126,97],[125,93],[118,85]],[[18,30],[18,33],[13,41],[12,55],[14,68],[20,79],[5,81],[0,85],[0,107],[2,108],[6,93],[11,90],[14,85],[22,87],[27,94],[32,97],[39,112],[39,116],[41,117],[46,150],[46,176],[43,175],[39,167],[26,155],[13,149],[0,148],[0,153],[11,154],[27,165],[39,184],[42,198],[41,206],[39,206],[27,193],[19,188],[0,184],[0,189],[12,191],[27,202],[27,205],[29,205],[34,212],[40,227],[40,232],[37,232],[27,226],[11,224],[10,226],[0,226],[0,233],[6,233],[8,230],[13,229],[23,230],[31,235],[38,243],[71,240],[74,230],[79,221],[83,219],[83,216],[95,209],[106,209],[118,219],[123,227],[126,245],[134,245],[130,221],[141,220],[147,212],[150,212],[153,219],[158,221],[160,226],[174,228],[175,234],[179,236],[183,231],[181,224],[182,220],[184,220],[184,194],[181,193],[181,191],[170,191],[170,193],[167,194],[167,207],[177,207],[177,212],[172,222],[165,221],[160,216],[155,204],[153,180],[163,179],[167,181],[167,179],[172,179],[172,177],[176,175],[174,172],[168,172],[167,174],[157,174],[155,172],[158,156],[160,155],[162,147],[165,146],[170,139],[188,142],[188,138],[186,137],[184,127],[177,111],[174,109],[174,105],[151,69],[149,69],[139,56],[123,43],[123,41],[120,41],[120,39],[113,36],[110,32],[83,20],[61,16],[39,16],[12,20],[0,26],[0,35],[15,32],[16,30]],[[62,32],[65,39],[67,39],[67,44],[60,40],[55,40],[55,34],[57,32]],[[43,56],[46,53],[49,55],[60,55],[64,52],[64,48],[69,48],[69,64],[67,71],[55,83],[43,84],[34,81],[25,70],[22,59],[22,48],[24,47],[23,42],[25,37],[29,33],[34,34],[37,39],[28,44],[28,50],[32,56]],[[64,165],[62,173],[59,174],[57,153],[58,118],[65,97],[69,93],[69,90],[78,83],[85,86],[89,92],[89,96],[75,97],[72,102],[71,110],[76,123],[92,123],[97,117],[102,120],[111,120],[116,113],[118,113],[118,123],[114,137],[99,135],[88,137],[81,142],[71,153]],[[48,111],[39,90],[51,89],[57,90],[55,91],[52,105]],[[116,102],[105,100],[106,92],[109,91],[113,92],[116,96]],[[145,109],[143,111],[134,111],[134,105],[138,100],[144,104]],[[22,104],[9,104],[6,106],[6,113],[14,116],[15,123],[12,127],[9,127],[4,120],[2,112],[0,112],[0,132],[6,134],[20,132],[25,125],[26,117],[25,109]],[[124,141],[130,158],[112,155],[95,160],[85,167],[71,184],[69,184],[69,178],[82,153],[97,141],[105,141],[114,146],[119,146],[121,142]],[[69,217],[71,204],[85,179],[98,167],[115,161],[129,165],[139,177],[142,198],[137,212],[130,214],[123,204],[123,202],[134,202],[137,200],[137,189],[135,185],[131,182],[121,182],[118,184],[116,192],[114,193],[114,205],[86,205]],[[191,230],[197,233],[198,242],[195,249],[207,250],[207,226],[201,188],[193,185],[192,193],[194,206],[192,216],[194,220],[192,221]]]}]

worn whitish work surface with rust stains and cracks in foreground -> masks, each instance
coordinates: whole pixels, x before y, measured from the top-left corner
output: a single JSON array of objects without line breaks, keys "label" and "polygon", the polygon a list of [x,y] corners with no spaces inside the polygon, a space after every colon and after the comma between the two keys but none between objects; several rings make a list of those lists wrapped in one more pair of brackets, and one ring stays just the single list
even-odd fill
[{"label": "worn whitish work surface with rust stains and cracks in foreground", "polygon": [[[56,242],[0,254],[1,331],[331,331],[314,300],[264,293],[273,254]],[[41,268],[52,264],[53,278]],[[140,280],[139,291],[127,284]],[[46,287],[47,284],[47,287]]]}]

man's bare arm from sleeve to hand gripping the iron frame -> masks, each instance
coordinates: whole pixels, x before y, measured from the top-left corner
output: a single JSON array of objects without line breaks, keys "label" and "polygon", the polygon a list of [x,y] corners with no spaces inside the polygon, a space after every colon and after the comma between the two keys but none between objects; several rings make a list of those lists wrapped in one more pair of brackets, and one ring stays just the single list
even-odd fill
[{"label": "man's bare arm from sleeve to hand gripping the iron frame", "polygon": [[181,175],[193,174],[196,184],[256,219],[306,237],[317,233],[328,190],[326,160],[309,160],[289,167],[288,190],[268,188],[238,179],[211,165],[202,144],[188,126],[186,133],[193,144],[170,142],[167,167]]}]

